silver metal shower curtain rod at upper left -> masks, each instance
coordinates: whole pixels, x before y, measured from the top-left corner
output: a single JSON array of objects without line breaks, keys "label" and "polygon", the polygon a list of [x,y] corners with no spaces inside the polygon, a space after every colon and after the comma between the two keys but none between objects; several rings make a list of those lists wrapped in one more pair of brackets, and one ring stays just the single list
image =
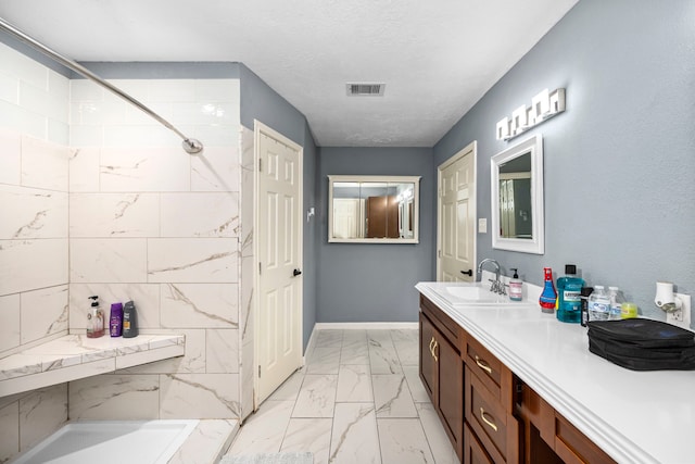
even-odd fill
[{"label": "silver metal shower curtain rod at upper left", "polygon": [[24,43],[35,48],[36,50],[40,51],[41,53],[46,54],[47,57],[49,57],[49,58],[53,59],[54,61],[59,62],[63,66],[65,66],[65,67],[67,67],[70,70],[73,70],[74,72],[76,72],[77,74],[83,75],[84,77],[87,77],[89,80],[92,80],[93,83],[99,84],[101,87],[105,88],[106,90],[110,90],[111,92],[115,93],[116,96],[121,97],[122,99],[126,100],[127,102],[131,103],[132,105],[139,108],[142,112],[144,112],[144,113],[149,114],[150,116],[152,116],[153,118],[155,118],[164,127],[166,127],[167,129],[176,133],[176,135],[179,136],[184,140],[181,145],[184,147],[184,150],[186,150],[187,153],[195,154],[195,153],[200,153],[203,150],[203,145],[199,140],[197,140],[194,138],[186,137],[179,129],[174,127],[172,125],[172,123],[169,123],[164,117],[162,117],[159,114],[156,114],[154,111],[150,110],[148,106],[142,104],[140,101],[138,101],[135,98],[130,97],[128,93],[124,92],[118,87],[116,87],[116,86],[114,86],[112,84],[109,84],[108,81],[105,81],[104,79],[102,79],[101,77],[99,77],[98,75],[96,75],[94,73],[92,73],[91,71],[86,68],[85,66],[83,66],[81,64],[79,64],[79,63],[77,63],[77,62],[75,62],[75,61],[73,61],[73,60],[71,60],[68,58],[63,57],[59,52],[50,49],[49,47],[45,46],[43,43],[39,42],[38,40],[29,37],[26,34],[24,34],[23,32],[21,32],[20,29],[17,29],[16,27],[11,25],[7,21],[4,21],[2,17],[0,17],[0,29],[4,30],[5,33],[9,33],[10,35],[12,35],[15,38],[17,38],[18,40],[23,41]]}]

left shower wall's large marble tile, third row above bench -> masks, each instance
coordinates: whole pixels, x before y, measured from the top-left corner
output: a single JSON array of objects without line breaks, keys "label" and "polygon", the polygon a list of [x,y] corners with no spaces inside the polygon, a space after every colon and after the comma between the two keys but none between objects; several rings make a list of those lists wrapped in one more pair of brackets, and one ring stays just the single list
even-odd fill
[{"label": "left shower wall's large marble tile, third row above bench", "polygon": [[67,193],[0,185],[0,239],[67,238]]}]

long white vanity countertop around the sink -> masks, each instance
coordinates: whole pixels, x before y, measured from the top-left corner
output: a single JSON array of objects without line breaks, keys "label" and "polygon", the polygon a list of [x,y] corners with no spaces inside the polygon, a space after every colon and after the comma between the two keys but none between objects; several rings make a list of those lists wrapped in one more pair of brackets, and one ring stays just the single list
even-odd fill
[{"label": "long white vanity countertop around the sink", "polygon": [[534,301],[455,309],[420,293],[619,463],[695,463],[695,371],[635,372],[589,351],[586,328],[544,314]]}]

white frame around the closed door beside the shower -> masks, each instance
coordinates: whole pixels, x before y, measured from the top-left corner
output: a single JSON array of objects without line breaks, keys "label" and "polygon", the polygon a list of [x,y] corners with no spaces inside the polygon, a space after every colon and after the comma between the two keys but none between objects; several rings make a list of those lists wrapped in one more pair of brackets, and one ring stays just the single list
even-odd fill
[{"label": "white frame around the closed door beside the shower", "polygon": [[[270,138],[276,139],[277,141],[285,143],[286,146],[294,149],[298,151],[299,153],[299,185],[300,185],[300,191],[299,191],[299,205],[300,208],[296,209],[296,221],[298,224],[300,224],[299,227],[299,237],[298,237],[298,266],[300,269],[304,268],[304,148],[302,146],[300,146],[299,143],[295,143],[294,141],[290,140],[289,138],[287,138],[286,136],[283,136],[282,134],[278,133],[277,130],[273,129],[271,127],[263,124],[262,122],[260,122],[258,120],[253,120],[253,289],[258,289],[260,288],[260,280],[261,280],[261,275],[258,269],[261,268],[261,261],[260,261],[260,252],[258,250],[261,249],[261,241],[260,238],[262,237],[261,234],[258,234],[257,231],[260,230],[260,217],[258,217],[258,199],[260,199],[260,188],[261,188],[261,181],[260,181],[260,171],[258,171],[258,166],[260,166],[260,161],[261,161],[261,152],[260,152],[260,147],[261,147],[261,135],[266,135]],[[299,317],[296,317],[296,324],[299,325],[299,327],[295,327],[295,330],[292,330],[292,333],[296,334],[296,343],[298,347],[300,348],[299,353],[299,365],[303,365],[304,361],[303,361],[303,356],[302,356],[302,352],[304,351],[304,347],[303,347],[303,338],[302,338],[302,329],[303,329],[303,321],[304,321],[304,285],[303,285],[303,279],[302,279],[302,284],[300,286],[300,290],[299,290]],[[260,325],[258,325],[258,316],[260,316],[260,303],[261,303],[261,299],[258,298],[258,293],[257,291],[253,291],[253,298],[251,299],[252,304],[251,304],[251,312],[253,313],[253,372],[252,372],[252,376],[253,376],[253,411],[256,411],[260,406],[258,404],[258,384],[260,384],[260,378],[258,378],[258,372],[261,368],[261,363],[260,363],[260,343],[261,343],[261,337],[258,336],[258,331],[260,331]]]}]

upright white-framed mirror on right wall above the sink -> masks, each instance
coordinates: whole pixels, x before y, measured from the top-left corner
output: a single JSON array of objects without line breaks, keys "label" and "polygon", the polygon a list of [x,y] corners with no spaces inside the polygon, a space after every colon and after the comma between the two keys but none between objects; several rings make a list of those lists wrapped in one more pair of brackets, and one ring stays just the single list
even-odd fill
[{"label": "upright white-framed mirror on right wall above the sink", "polygon": [[543,137],[531,137],[490,160],[492,248],[543,254]]}]

